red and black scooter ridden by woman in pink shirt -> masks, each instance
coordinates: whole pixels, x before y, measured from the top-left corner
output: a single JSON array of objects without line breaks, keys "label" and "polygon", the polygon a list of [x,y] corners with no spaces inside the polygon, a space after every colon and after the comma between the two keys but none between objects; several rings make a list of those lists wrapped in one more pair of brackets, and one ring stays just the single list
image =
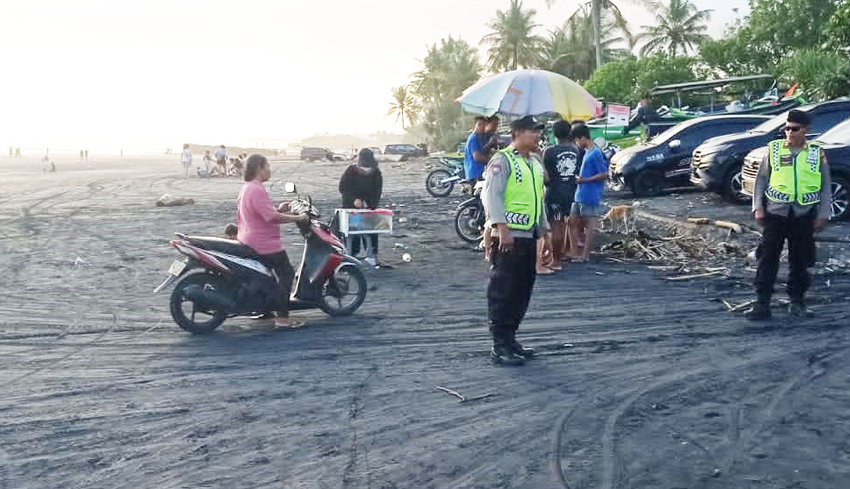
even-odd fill
[{"label": "red and black scooter ridden by woman in pink shirt", "polygon": [[[295,185],[285,189],[295,193]],[[296,225],[306,241],[301,264],[295,270],[290,310],[321,309],[331,316],[356,311],[366,298],[366,277],[360,262],[345,253],[331,228],[319,220],[312,200],[296,196],[294,214],[310,220]],[[238,241],[176,233],[171,241],[186,256],[168,269],[169,276],[154,290],[171,285],[171,316],[192,333],[210,333],[225,319],[270,312],[279,290],[275,272],[260,263],[257,254]]]}]

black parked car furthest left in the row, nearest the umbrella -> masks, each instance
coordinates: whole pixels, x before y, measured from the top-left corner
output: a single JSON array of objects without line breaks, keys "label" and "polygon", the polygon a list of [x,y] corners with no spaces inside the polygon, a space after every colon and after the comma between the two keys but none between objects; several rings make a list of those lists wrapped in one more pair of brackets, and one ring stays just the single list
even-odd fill
[{"label": "black parked car furthest left in the row, nearest the umbrella", "polygon": [[763,115],[718,115],[691,119],[611,158],[609,185],[652,196],[664,187],[688,184],[691,154],[709,138],[752,129],[770,119]]}]

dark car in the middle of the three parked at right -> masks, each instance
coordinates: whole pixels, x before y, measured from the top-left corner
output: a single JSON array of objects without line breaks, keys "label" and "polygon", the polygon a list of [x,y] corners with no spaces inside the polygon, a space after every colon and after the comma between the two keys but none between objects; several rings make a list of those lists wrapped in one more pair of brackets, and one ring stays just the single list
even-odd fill
[{"label": "dark car in the middle of the three parked at right", "polygon": [[[809,114],[812,125],[809,138],[815,139],[850,118],[850,99],[844,97],[820,104],[800,107]],[[691,183],[705,190],[723,194],[731,202],[745,204],[750,197],[741,190],[741,166],[750,151],[785,137],[787,112],[773,117],[753,129],[738,134],[711,138],[694,150]]]}]

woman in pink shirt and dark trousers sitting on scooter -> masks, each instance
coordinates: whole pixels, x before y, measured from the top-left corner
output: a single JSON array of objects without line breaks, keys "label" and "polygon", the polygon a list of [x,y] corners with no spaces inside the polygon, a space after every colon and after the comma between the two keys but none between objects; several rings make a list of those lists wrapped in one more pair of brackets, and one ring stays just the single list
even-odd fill
[{"label": "woman in pink shirt and dark trousers sitting on scooter", "polygon": [[297,328],[303,322],[295,322],[289,317],[289,294],[295,269],[289,262],[286,250],[280,240],[280,225],[287,222],[306,221],[307,214],[292,215],[278,212],[274,207],[263,182],[271,178],[269,162],[263,155],[251,155],[245,164],[245,185],[239,191],[236,209],[236,222],[239,227],[237,239],[250,246],[260,255],[260,261],[272,268],[280,281],[280,302],[278,303],[275,326]]}]

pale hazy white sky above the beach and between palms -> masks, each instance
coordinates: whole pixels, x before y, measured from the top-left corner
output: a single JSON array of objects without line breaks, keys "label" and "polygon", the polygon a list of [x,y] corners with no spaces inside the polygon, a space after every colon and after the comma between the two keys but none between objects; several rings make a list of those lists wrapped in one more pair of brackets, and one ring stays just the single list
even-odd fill
[{"label": "pale hazy white sky above the beach and between palms", "polygon": [[[713,9],[718,37],[746,0]],[[618,2],[634,30],[652,17]],[[427,47],[477,45],[509,0],[0,0],[0,148],[275,145],[401,132],[387,116]],[[525,0],[540,34],[575,0]],[[484,53],[482,50],[482,61]]]}]

